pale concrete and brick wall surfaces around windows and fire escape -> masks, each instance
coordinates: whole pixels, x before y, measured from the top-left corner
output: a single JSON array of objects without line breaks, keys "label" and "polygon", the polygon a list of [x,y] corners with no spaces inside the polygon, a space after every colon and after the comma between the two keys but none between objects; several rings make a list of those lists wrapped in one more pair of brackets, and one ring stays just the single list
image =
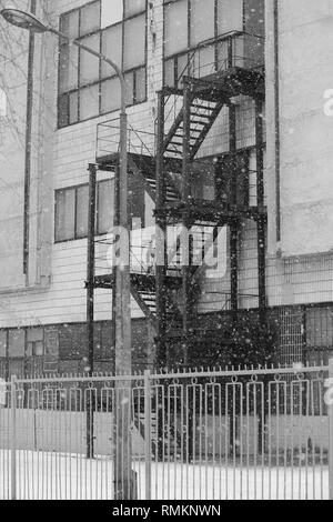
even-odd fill
[{"label": "pale concrete and brick wall surfaces around windows and fire escape", "polygon": [[[2,2],[1,2],[2,3]],[[54,27],[59,14],[85,0],[42,2],[39,14]],[[274,71],[274,1],[265,1],[266,23],[266,159],[265,185],[269,209],[268,294],[270,305],[332,300],[333,267],[331,230],[331,142],[333,119],[324,116],[323,93],[332,78],[330,37],[332,6],[321,0],[279,2],[280,60],[280,161],[281,241],[276,238],[276,83]],[[19,0],[23,8],[28,2]],[[0,21],[1,28],[3,22]],[[7,29],[6,29],[7,30]],[[10,29],[16,56],[28,48],[28,39]],[[20,33],[20,37],[18,34]],[[23,36],[24,34],[24,36]],[[18,40],[18,41],[17,41]],[[300,51],[300,49],[303,49]],[[297,50],[297,52],[295,51]],[[130,123],[153,132],[157,91],[162,86],[162,0],[149,2],[148,101],[129,108]],[[22,59],[22,64],[21,64]],[[0,58],[0,63],[2,58]],[[1,249],[0,328],[84,322],[87,241],[54,244],[54,190],[88,182],[87,165],[95,160],[97,126],[118,113],[57,129],[58,44],[52,36],[37,37],[33,96],[33,147],[31,172],[30,262],[22,272],[23,173],[27,100],[27,53],[20,70],[7,62],[0,79],[10,82],[10,119],[0,131]],[[1,83],[0,83],[1,87]],[[254,144],[253,102],[238,101],[238,147]],[[19,130],[19,132],[17,132]],[[223,109],[200,155],[228,150],[228,109]],[[251,158],[255,170],[255,158]],[[9,174],[10,173],[10,174]],[[102,174],[105,177],[107,174]],[[10,183],[8,184],[8,178]],[[203,182],[204,185],[204,182]],[[206,193],[211,193],[211,187]],[[255,197],[253,189],[252,197]],[[147,224],[152,224],[153,204],[145,197]],[[295,210],[295,212],[294,212]],[[320,233],[319,233],[320,231]],[[228,249],[226,249],[228,253]],[[320,253],[320,255],[319,255]],[[226,255],[228,257],[228,255]],[[224,273],[224,271],[223,271]],[[221,310],[230,291],[230,270],[203,283],[202,312]],[[221,292],[216,293],[216,288]],[[240,304],[256,307],[256,231],[245,222],[240,249]],[[97,320],[109,320],[111,294],[97,292]],[[142,313],[132,302],[132,314]]]}]

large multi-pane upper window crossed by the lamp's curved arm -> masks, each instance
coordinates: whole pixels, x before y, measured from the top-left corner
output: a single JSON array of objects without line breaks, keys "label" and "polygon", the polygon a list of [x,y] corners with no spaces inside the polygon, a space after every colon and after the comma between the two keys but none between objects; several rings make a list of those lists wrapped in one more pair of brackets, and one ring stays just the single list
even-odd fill
[{"label": "large multi-pane upper window crossed by the lamp's curved arm", "polygon": [[[127,102],[147,98],[147,0],[98,0],[64,13],[60,29],[110,56],[128,80]],[[120,109],[120,83],[103,60],[60,39],[58,127]]]}]

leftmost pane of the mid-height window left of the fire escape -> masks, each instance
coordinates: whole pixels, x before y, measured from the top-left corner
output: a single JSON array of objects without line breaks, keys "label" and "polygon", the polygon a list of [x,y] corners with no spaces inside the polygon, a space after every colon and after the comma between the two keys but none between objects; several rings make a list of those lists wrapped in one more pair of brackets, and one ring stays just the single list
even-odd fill
[{"label": "leftmost pane of the mid-height window left of the fire escape", "polygon": [[75,190],[56,193],[56,241],[74,239]]}]

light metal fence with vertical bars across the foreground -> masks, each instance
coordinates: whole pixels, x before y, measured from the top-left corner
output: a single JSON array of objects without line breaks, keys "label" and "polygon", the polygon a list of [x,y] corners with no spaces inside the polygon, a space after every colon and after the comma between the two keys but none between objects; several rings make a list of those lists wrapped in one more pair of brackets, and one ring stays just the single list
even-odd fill
[{"label": "light metal fence with vertical bars across the foreground", "polygon": [[0,387],[0,499],[333,498],[327,367]]}]

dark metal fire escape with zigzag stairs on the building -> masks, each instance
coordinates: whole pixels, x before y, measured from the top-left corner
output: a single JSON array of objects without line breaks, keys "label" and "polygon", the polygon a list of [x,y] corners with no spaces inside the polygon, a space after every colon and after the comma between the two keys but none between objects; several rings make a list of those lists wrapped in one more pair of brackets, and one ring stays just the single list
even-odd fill
[{"label": "dark metal fire escape with zigzag stairs on the building", "polygon": [[[195,69],[195,52],[189,57],[186,69],[178,76],[175,84],[163,87],[158,93],[153,139],[148,138],[148,133],[144,138],[144,132],[130,129],[134,139],[129,138],[129,173],[140,179],[154,202],[157,223],[153,268],[147,267],[135,245],[131,247],[131,292],[154,328],[159,365],[191,365],[193,350],[200,352],[206,345],[223,348],[229,342],[223,331],[202,328],[198,312],[201,289],[195,257],[198,251],[205,252],[215,244],[221,227],[228,227],[230,231],[230,295],[226,304],[232,321],[236,323],[240,231],[244,220],[256,223],[258,308],[260,321],[265,321],[264,70],[262,66],[236,56],[239,40],[243,38],[244,34],[238,32],[221,39],[226,57],[223,63],[214,63],[208,74],[201,74],[200,67]],[[234,100],[239,97],[251,98],[255,106],[255,204],[250,204],[249,198],[249,159],[246,152],[238,150]],[[225,172],[228,198],[199,199],[192,190],[193,165],[200,167],[201,149],[224,108],[228,109],[229,150],[214,162]],[[118,153],[111,153],[109,145],[101,147],[101,143],[112,141],[111,133],[112,124],[100,126],[97,165],[91,167],[94,172],[92,179],[97,170],[118,168]],[[115,129],[114,143],[117,140]],[[110,271],[99,273],[100,268],[95,265],[97,240],[92,221],[88,289],[93,299],[94,289],[112,289],[113,278]],[[171,245],[169,230],[176,227],[180,227],[180,234]],[[182,237],[185,230],[199,232],[198,235]],[[108,239],[99,239],[98,242],[108,244]],[[157,261],[159,257],[160,262]]]}]

